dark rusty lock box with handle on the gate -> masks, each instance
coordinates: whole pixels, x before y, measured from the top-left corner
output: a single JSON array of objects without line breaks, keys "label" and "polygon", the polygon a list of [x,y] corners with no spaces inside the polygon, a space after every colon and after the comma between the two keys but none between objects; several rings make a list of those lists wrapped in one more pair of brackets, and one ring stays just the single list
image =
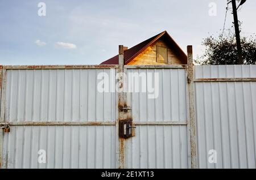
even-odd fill
[{"label": "dark rusty lock box with handle on the gate", "polygon": [[119,121],[119,137],[120,138],[130,138],[133,136],[133,122],[131,120]]}]

